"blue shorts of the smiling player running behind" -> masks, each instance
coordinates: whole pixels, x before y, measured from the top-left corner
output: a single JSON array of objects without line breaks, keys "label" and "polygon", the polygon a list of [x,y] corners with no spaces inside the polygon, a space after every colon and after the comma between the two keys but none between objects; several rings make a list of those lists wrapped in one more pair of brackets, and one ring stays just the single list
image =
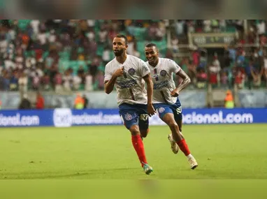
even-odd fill
[{"label": "blue shorts of the smiling player running behind", "polygon": [[175,104],[153,103],[153,106],[160,119],[169,112],[173,113],[176,122],[182,120],[182,106],[178,98]]}]

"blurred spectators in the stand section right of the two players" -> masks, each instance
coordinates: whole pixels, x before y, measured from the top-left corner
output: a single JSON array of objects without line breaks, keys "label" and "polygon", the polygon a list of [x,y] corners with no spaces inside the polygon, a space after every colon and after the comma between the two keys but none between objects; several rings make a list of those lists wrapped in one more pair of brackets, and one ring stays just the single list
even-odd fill
[{"label": "blurred spectators in the stand section right of the two players", "polygon": [[223,88],[231,88],[234,84],[238,89],[267,87],[266,21],[248,20],[247,34],[243,21],[175,21],[175,36],[171,40],[173,53],[179,52],[178,38],[187,33],[235,32],[238,35],[236,41],[224,47],[223,59],[212,54],[208,61],[200,48],[193,47],[191,57],[177,60],[196,87],[206,87],[208,82],[213,87]]}]

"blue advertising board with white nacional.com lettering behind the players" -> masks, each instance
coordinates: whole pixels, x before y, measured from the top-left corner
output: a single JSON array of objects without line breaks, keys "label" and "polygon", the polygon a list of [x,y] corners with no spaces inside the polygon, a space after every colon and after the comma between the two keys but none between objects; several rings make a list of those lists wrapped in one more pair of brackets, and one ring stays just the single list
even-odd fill
[{"label": "blue advertising board with white nacional.com lettering behind the players", "polygon": [[[184,124],[252,124],[267,123],[267,108],[184,109]],[[117,109],[71,110],[0,110],[0,127],[11,126],[89,126],[122,125]],[[150,125],[164,125],[157,115]]]}]

